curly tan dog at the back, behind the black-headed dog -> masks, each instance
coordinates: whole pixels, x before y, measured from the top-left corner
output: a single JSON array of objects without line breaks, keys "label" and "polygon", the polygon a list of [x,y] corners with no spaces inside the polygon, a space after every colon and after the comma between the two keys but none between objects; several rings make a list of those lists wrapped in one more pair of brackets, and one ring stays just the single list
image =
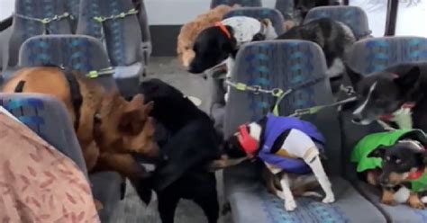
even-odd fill
[{"label": "curly tan dog at the back, behind the black-headed dog", "polygon": [[207,13],[198,15],[194,21],[186,23],[179,32],[177,37],[177,56],[184,67],[188,67],[191,60],[195,58],[193,51],[193,43],[195,38],[205,28],[213,26],[215,22],[223,20],[223,15],[230,12],[233,8],[240,7],[239,4],[234,4],[232,7],[220,4]]}]

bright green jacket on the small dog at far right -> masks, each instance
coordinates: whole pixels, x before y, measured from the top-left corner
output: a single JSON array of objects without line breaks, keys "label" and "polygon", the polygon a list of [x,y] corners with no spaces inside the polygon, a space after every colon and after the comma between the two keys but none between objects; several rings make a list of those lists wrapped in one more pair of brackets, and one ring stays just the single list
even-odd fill
[{"label": "bright green jacket on the small dog at far right", "polygon": [[[421,129],[395,129],[393,131],[369,134],[359,140],[354,147],[350,161],[357,163],[357,172],[365,172],[382,167],[382,159],[368,157],[378,147],[390,147],[403,138],[412,138],[427,145],[427,137]],[[427,189],[427,173],[416,172],[409,176],[411,190],[413,192],[425,191]]]}]

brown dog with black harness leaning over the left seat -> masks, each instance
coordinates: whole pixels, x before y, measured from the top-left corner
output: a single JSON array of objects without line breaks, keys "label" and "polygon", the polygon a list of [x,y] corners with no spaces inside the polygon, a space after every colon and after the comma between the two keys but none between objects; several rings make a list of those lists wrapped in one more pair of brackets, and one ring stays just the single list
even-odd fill
[{"label": "brown dog with black harness leaning over the left seat", "polygon": [[149,117],[153,103],[144,105],[142,94],[127,102],[118,92],[107,93],[94,80],[60,67],[23,68],[5,83],[3,91],[50,94],[63,102],[88,172],[116,171],[132,182],[147,174],[132,154],[159,158]]}]

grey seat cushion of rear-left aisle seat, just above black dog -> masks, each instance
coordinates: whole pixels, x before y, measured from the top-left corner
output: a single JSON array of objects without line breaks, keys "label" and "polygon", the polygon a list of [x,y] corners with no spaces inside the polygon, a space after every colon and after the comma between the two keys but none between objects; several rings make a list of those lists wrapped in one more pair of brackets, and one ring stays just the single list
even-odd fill
[{"label": "grey seat cushion of rear-left aisle seat, just above black dog", "polygon": [[141,62],[130,66],[114,67],[114,79],[119,91],[125,96],[132,96],[137,93],[140,78],[144,72]]}]

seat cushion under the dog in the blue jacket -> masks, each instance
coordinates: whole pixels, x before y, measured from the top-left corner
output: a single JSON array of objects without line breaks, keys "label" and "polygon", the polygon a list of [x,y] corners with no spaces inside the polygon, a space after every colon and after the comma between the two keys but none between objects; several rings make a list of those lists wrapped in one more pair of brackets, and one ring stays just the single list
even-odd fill
[{"label": "seat cushion under the dog in the blue jacket", "polygon": [[341,177],[331,179],[334,203],[324,204],[319,198],[299,197],[295,198],[296,210],[287,212],[284,201],[268,193],[260,183],[254,174],[258,173],[256,168],[245,163],[224,171],[225,192],[236,223],[386,222],[383,214]]}]

